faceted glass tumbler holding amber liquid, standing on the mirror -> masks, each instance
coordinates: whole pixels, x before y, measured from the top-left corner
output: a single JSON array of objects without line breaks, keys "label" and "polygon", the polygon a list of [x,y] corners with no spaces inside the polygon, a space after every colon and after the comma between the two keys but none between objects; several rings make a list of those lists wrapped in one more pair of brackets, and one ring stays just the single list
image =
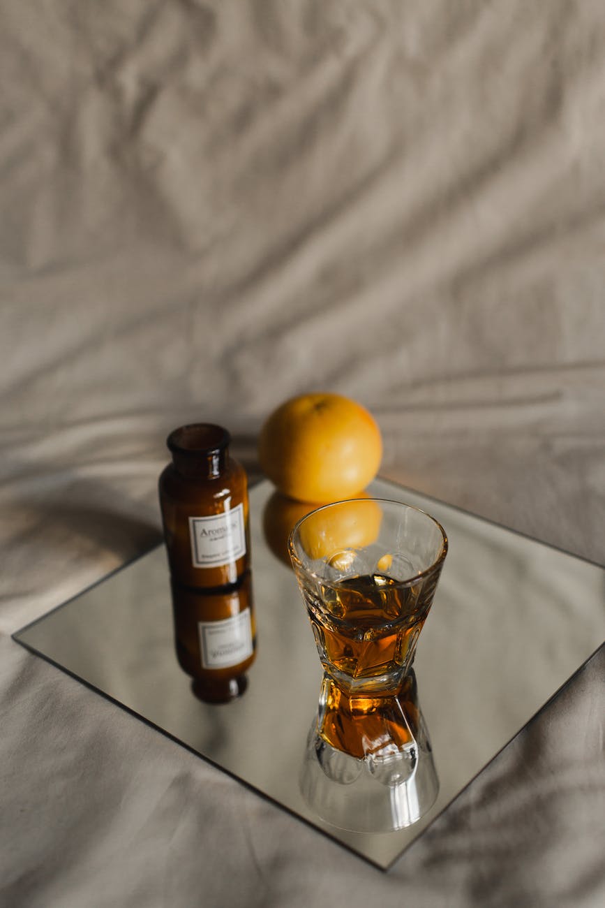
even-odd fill
[{"label": "faceted glass tumbler holding amber liquid, standing on the mirror", "polygon": [[349,696],[392,696],[433,603],[444,528],[410,505],[355,498],[298,521],[288,550],[327,675]]}]

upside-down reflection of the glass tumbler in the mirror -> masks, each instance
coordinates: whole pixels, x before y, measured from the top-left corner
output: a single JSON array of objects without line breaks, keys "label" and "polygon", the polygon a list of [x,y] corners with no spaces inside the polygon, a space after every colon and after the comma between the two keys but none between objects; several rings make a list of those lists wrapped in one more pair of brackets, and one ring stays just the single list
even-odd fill
[{"label": "upside-down reflection of the glass tumbler in the mirror", "polygon": [[411,670],[395,696],[347,695],[324,676],[300,788],[327,823],[391,832],[416,823],[439,791]]}]

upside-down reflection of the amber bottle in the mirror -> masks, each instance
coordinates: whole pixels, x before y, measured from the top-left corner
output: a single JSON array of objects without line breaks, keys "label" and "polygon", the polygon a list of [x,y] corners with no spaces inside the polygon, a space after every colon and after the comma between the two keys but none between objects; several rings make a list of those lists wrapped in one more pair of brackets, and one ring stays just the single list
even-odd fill
[{"label": "upside-down reflection of the amber bottle in the mirror", "polygon": [[205,703],[229,703],[248,686],[246,672],[257,650],[252,579],[217,590],[171,581],[176,656]]}]

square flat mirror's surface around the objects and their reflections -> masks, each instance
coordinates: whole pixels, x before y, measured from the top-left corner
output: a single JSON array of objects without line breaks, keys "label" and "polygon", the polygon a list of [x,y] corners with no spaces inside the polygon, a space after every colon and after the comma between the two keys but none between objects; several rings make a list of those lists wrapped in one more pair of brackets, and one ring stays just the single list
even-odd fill
[{"label": "square flat mirror's surface around the objects and their reflections", "polygon": [[423,508],[449,538],[414,666],[439,793],[404,829],[347,832],[300,790],[322,674],[294,573],[265,538],[272,491],[250,489],[258,652],[239,699],[211,705],[191,692],[175,656],[163,546],[15,639],[385,868],[600,646],[605,569],[383,479],[368,487]]}]

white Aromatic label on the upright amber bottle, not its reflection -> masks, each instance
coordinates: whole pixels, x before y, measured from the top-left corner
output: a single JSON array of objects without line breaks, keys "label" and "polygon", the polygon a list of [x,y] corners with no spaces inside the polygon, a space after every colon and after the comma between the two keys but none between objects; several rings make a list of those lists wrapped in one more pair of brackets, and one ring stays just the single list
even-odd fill
[{"label": "white Aromatic label on the upright amber bottle, not its reflection", "polygon": [[194,568],[216,568],[246,554],[244,506],[211,517],[190,517],[189,534]]}]

